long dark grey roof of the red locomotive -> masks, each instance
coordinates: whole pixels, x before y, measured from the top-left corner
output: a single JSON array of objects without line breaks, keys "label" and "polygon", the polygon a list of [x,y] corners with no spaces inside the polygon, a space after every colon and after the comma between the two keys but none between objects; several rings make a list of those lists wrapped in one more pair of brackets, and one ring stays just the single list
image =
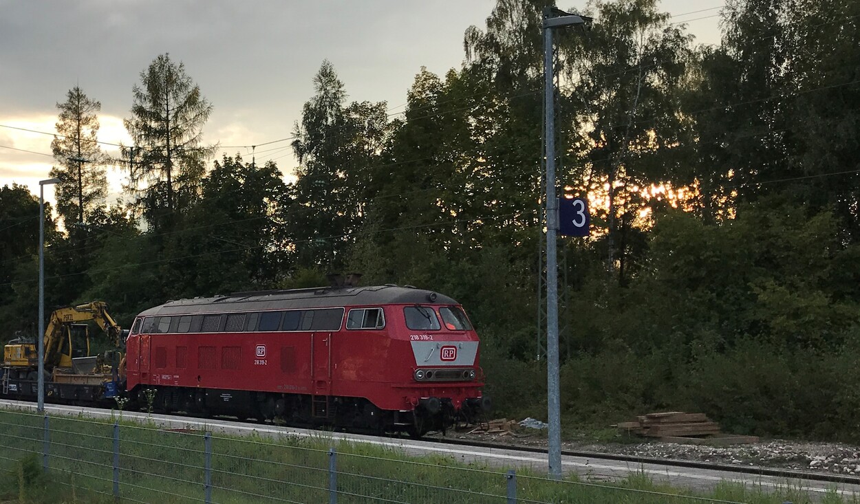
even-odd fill
[{"label": "long dark grey roof of the red locomotive", "polygon": [[317,287],[286,291],[236,292],[214,298],[178,299],[144,310],[140,316],[382,304],[458,303],[445,295],[410,286]]}]

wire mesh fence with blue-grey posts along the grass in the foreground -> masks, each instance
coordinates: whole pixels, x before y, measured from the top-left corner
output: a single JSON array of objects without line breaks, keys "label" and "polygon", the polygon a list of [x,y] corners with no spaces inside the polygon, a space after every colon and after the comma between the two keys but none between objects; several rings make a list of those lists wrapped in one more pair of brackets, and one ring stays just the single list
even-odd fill
[{"label": "wire mesh fence with blue-grey posts along the grass in the foreground", "polygon": [[[655,489],[621,488],[571,477],[451,458],[406,458],[321,439],[231,437],[190,429],[0,410],[0,470],[23,483],[26,464],[63,490],[127,502],[364,502],[516,504],[709,501]],[[388,456],[390,455],[390,457]],[[39,470],[39,468],[41,470]],[[32,467],[30,468],[32,471]],[[17,479],[15,479],[17,478]],[[69,501],[66,499],[65,501]],[[71,501],[75,501],[72,498]],[[87,501],[89,502],[89,501]]]}]

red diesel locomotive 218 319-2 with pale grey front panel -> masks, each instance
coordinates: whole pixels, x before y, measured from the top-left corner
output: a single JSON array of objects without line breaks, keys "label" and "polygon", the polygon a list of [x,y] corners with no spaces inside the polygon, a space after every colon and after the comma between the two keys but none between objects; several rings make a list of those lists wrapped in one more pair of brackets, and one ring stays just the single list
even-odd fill
[{"label": "red diesel locomotive 218 319-2 with pale grey front panel", "polygon": [[159,411],[422,435],[489,406],[462,307],[409,286],[170,301],[126,344],[126,390]]}]

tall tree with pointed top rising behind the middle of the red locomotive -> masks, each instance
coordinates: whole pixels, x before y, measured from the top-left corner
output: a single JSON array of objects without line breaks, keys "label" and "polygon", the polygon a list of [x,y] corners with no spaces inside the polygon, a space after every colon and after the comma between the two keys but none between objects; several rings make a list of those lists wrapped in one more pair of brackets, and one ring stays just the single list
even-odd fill
[{"label": "tall tree with pointed top rising behind the middle of the red locomotive", "polygon": [[386,105],[347,105],[344,85],[329,61],[317,71],[314,89],[294,126],[292,149],[299,166],[289,232],[298,266],[340,269],[365,212],[365,182],[388,126]]}]

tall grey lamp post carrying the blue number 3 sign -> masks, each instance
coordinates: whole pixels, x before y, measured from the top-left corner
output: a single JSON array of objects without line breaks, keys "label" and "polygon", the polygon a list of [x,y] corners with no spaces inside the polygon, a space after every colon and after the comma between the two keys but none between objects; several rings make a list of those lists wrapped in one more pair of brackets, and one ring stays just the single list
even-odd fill
[{"label": "tall grey lamp post carrying the blue number 3 sign", "polygon": [[552,28],[584,26],[591,18],[572,15],[552,7],[544,8],[544,137],[546,142],[546,383],[547,416],[550,421],[550,476],[562,477],[562,419],[558,384],[558,267],[556,233],[558,200],[556,200],[556,126],[554,86],[552,83]]}]

